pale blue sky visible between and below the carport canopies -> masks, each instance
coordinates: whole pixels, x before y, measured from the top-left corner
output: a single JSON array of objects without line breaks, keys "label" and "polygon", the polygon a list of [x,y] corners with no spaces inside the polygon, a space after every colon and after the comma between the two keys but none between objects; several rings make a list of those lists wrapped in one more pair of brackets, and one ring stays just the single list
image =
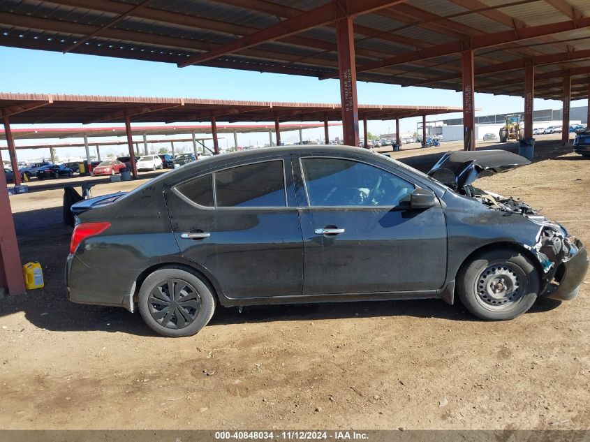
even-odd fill
[{"label": "pale blue sky visible between and below the carport canopies", "polygon": [[[306,101],[338,103],[337,80],[323,80],[297,75],[254,73],[221,68],[61,54],[0,47],[0,91],[47,94],[91,94],[126,96],[177,96],[193,98],[226,98],[260,101]],[[392,84],[357,84],[359,103],[399,105],[461,106],[461,94],[455,91]],[[584,105],[582,101],[573,106]],[[561,108],[559,101],[535,100],[536,109]],[[475,94],[476,115],[522,112],[524,100],[510,96]],[[459,115],[460,116],[460,115]],[[435,119],[437,117],[433,117]],[[443,117],[446,118],[446,117]],[[438,118],[441,119],[441,118]],[[418,119],[402,119],[401,132],[415,131]],[[47,126],[47,125],[44,125]],[[370,121],[369,131],[394,131],[394,121]],[[318,138],[323,129],[305,131],[304,138]],[[334,136],[339,135],[334,128]],[[341,131],[340,131],[341,134]],[[297,140],[298,134],[286,133],[283,140]],[[242,135],[239,144],[267,142],[268,135]],[[230,145],[233,141],[230,140]],[[31,143],[29,143],[31,144]],[[36,144],[36,141],[35,141]],[[223,145],[225,142],[221,142]],[[113,148],[115,149],[115,148]],[[105,149],[106,150],[106,149]],[[121,149],[116,148],[117,152]],[[61,155],[73,154],[60,151]],[[108,151],[107,151],[108,152]],[[38,156],[38,152],[21,151],[20,159]]]}]

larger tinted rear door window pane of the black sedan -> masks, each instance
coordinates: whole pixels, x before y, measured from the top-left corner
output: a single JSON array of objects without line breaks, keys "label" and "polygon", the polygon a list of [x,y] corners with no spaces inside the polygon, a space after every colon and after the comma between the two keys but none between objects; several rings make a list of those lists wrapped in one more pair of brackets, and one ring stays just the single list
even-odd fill
[{"label": "larger tinted rear door window pane of the black sedan", "polygon": [[215,172],[218,207],[286,207],[283,161],[265,161]]}]

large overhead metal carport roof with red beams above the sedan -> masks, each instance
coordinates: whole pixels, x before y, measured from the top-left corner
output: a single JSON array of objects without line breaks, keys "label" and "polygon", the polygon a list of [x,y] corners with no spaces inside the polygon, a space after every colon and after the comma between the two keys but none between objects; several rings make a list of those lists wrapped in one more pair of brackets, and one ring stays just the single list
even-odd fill
[{"label": "large overhead metal carport roof with red beams above the sedan", "polygon": [[[523,68],[590,73],[587,0],[4,0],[0,45],[337,78],[337,22],[353,17],[357,79],[523,96]],[[561,98],[561,84],[538,98]],[[516,87],[516,89],[515,89]],[[571,98],[585,98],[587,82]]]}]

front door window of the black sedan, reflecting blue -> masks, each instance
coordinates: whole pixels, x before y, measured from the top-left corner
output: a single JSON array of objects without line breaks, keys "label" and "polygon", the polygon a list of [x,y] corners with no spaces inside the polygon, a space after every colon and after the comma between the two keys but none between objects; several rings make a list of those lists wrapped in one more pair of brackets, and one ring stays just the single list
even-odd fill
[{"label": "front door window of the black sedan, reflecting blue", "polygon": [[311,206],[398,206],[413,184],[366,163],[334,158],[301,160]]}]

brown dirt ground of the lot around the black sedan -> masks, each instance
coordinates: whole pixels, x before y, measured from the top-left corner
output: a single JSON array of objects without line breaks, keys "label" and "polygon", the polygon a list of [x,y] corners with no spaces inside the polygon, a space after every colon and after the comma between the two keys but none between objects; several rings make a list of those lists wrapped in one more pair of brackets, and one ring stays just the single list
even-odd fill
[{"label": "brown dirt ground of the lot around the black sedan", "polygon": [[[557,145],[478,185],[590,244],[589,160]],[[446,149],[394,157],[424,168]],[[166,339],[66,300],[61,191],[10,201],[46,286],[0,302],[0,429],[590,428],[590,275],[576,300],[508,322],[439,300],[219,308],[196,337]]]}]

